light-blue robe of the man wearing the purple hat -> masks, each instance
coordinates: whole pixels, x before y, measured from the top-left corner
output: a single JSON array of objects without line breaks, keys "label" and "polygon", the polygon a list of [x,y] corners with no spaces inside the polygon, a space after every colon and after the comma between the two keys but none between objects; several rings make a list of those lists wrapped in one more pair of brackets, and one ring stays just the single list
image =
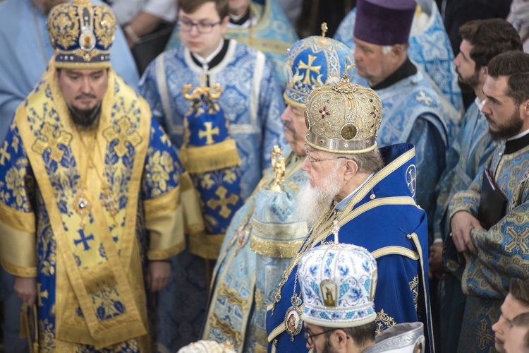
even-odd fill
[{"label": "light-blue robe of the man wearing the purple hat", "polygon": [[432,238],[435,188],[446,166],[449,143],[456,133],[455,117],[439,104],[437,92],[420,72],[376,92],[382,100],[383,116],[377,143],[415,145],[417,203],[427,213]]}]

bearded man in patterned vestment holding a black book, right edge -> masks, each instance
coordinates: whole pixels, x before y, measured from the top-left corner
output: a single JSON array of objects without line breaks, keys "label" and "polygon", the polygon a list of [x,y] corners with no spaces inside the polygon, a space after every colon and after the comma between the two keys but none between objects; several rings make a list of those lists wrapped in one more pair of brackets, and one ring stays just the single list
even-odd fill
[{"label": "bearded man in patterned vestment holding a black book, right edge", "polygon": [[458,350],[479,352],[494,347],[492,323],[509,279],[529,276],[529,54],[499,54],[487,71],[482,112],[490,135],[502,143],[485,172],[449,205],[451,236],[466,260]]}]

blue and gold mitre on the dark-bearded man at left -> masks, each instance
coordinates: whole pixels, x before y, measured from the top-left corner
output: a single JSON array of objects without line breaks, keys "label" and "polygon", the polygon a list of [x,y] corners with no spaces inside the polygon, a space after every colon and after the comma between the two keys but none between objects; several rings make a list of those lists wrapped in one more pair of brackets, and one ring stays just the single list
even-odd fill
[{"label": "blue and gold mitre on the dark-bearded man at left", "polygon": [[56,68],[109,68],[116,32],[111,8],[73,0],[51,9],[47,21]]}]

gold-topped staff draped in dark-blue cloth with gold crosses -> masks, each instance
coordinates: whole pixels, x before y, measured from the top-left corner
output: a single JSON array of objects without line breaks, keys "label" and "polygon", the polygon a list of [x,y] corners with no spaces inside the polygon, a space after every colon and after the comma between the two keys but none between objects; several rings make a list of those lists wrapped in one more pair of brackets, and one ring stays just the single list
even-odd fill
[{"label": "gold-topped staff draped in dark-blue cloth with gold crosses", "polygon": [[190,108],[183,121],[180,160],[197,191],[206,230],[206,237],[190,239],[189,251],[214,259],[231,218],[243,205],[241,157],[229,132],[229,117],[217,104],[219,83],[210,88],[203,78],[199,87],[185,85],[182,93]]}]

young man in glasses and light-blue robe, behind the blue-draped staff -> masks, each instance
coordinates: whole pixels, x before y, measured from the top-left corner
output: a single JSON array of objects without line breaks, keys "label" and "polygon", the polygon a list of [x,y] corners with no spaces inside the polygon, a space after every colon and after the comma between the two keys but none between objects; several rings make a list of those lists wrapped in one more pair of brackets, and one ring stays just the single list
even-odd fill
[{"label": "young man in glasses and light-blue robe, behind the blue-draped staff", "polygon": [[[226,116],[227,130],[241,160],[238,200],[245,201],[270,166],[274,145],[286,144],[279,118],[284,102],[274,68],[262,52],[224,38],[229,22],[228,0],[185,0],[179,1],[178,6],[183,45],[152,61],[140,81],[140,93],[181,153],[186,143],[186,116],[192,108],[184,87],[212,88],[219,84],[221,93],[215,104]],[[218,136],[212,126],[205,126],[202,131],[209,131],[212,138]],[[219,163],[223,162],[221,155]],[[217,185],[219,179],[203,182]],[[226,194],[224,199],[229,196]],[[235,212],[231,208],[226,215],[232,217]],[[159,327],[163,330],[159,337],[164,337],[164,345],[176,349],[199,338],[207,309],[209,277],[205,274],[211,273],[204,259],[217,258],[224,232],[200,239],[191,236],[189,248],[174,259],[174,266],[183,275],[174,278],[159,301]],[[182,301],[187,303],[185,311]]]}]

